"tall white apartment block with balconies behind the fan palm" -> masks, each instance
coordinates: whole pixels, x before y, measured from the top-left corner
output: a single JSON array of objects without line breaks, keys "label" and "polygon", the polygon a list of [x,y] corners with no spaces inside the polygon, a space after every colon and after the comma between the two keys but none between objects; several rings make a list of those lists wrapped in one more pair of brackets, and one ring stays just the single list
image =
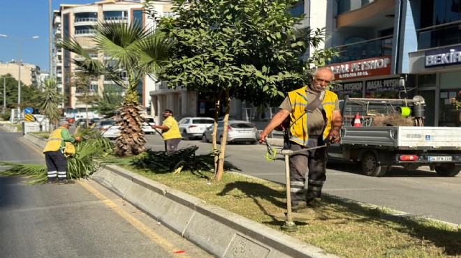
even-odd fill
[{"label": "tall white apartment block with balconies behind the fan palm", "polygon": [[[168,13],[170,10],[170,1],[156,1],[154,6],[159,15],[163,15],[163,13]],[[92,36],[95,34],[94,25],[104,21],[129,23],[133,22],[133,20],[142,22],[144,26],[155,26],[153,21],[147,19],[145,13],[143,13],[140,1],[107,0],[88,4],[61,4],[59,10],[54,10],[54,40],[75,38],[89,52],[92,58],[102,61],[105,56],[103,53],[97,52],[92,41]],[[72,116],[72,114],[85,109],[85,104],[82,102],[83,93],[70,85],[71,77],[75,70],[78,69],[72,63],[72,60],[79,58],[72,52],[54,47],[53,69],[54,74],[57,76],[59,90],[65,96],[68,96],[66,103],[64,103],[67,116]],[[102,96],[105,87],[114,85],[113,82],[100,77],[91,82],[88,90],[91,94]],[[154,89],[154,86],[154,79],[149,77],[146,77],[138,85],[138,96],[142,106],[149,107],[150,97],[148,93]]]}]

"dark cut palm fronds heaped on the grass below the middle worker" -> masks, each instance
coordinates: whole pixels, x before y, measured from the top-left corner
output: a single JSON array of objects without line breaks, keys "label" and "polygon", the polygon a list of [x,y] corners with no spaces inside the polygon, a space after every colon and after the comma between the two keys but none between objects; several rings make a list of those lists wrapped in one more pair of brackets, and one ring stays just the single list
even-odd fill
[{"label": "dark cut palm fronds heaped on the grass below the middle worker", "polygon": [[[103,163],[131,165],[140,169],[150,169],[155,173],[174,172],[175,174],[179,174],[182,170],[212,171],[214,169],[214,155],[212,153],[196,155],[197,149],[198,146],[190,146],[170,153],[170,155],[166,151],[152,151],[152,149],[147,149],[145,152],[132,158],[109,159]],[[224,169],[241,171],[230,162],[224,163]]]}]

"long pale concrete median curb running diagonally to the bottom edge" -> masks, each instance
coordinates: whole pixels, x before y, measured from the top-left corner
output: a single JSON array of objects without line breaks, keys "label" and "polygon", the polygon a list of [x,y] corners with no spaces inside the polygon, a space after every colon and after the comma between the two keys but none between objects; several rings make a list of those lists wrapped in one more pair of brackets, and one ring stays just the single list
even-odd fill
[{"label": "long pale concrete median curb running diagonally to the bottom edge", "polygon": [[104,165],[92,179],[217,257],[336,257],[117,166]]}]

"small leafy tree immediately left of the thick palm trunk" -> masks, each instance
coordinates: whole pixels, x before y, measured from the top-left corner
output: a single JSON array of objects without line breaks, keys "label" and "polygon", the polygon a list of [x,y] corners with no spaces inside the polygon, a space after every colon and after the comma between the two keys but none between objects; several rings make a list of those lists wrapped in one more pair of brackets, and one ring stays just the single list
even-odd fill
[{"label": "small leafy tree immediately left of the thick palm trunk", "polygon": [[105,86],[103,90],[103,98],[96,106],[96,110],[99,114],[105,116],[114,116],[117,114],[117,110],[122,106],[123,103],[123,91],[118,85]]}]

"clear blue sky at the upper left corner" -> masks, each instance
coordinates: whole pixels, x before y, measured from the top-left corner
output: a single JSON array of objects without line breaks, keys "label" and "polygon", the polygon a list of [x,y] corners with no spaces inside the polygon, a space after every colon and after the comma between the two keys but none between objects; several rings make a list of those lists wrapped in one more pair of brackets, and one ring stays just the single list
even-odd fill
[{"label": "clear blue sky at the upper left corner", "polygon": [[[52,10],[59,10],[63,3],[94,3],[96,0],[52,0]],[[50,69],[49,0],[0,0],[0,61],[21,59],[23,63]],[[32,38],[37,39],[15,40]],[[21,47],[20,45],[21,44]]]}]

